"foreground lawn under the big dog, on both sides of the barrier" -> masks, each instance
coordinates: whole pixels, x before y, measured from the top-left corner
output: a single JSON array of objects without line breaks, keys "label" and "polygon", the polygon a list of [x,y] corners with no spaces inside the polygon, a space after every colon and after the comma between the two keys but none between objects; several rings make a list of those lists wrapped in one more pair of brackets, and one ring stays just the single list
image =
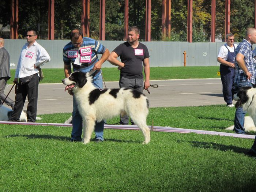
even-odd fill
[{"label": "foreground lawn under the big dog, on both sides of the barrier", "polygon": [[[147,124],[225,131],[234,111],[151,108]],[[69,116],[40,115],[40,122]],[[243,154],[253,139],[151,132],[143,145],[141,131],[105,129],[104,142],[84,145],[69,142],[70,133],[71,127],[0,125],[0,191],[255,191],[256,160]]]}]

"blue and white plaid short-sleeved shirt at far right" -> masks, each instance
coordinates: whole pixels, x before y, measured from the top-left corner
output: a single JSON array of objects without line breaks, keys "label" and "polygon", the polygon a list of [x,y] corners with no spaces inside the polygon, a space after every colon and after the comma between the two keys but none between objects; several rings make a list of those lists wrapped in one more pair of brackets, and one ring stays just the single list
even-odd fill
[{"label": "blue and white plaid short-sleeved shirt at far right", "polygon": [[251,43],[246,39],[243,39],[243,41],[237,46],[235,50],[235,57],[237,56],[238,53],[241,53],[244,56],[245,66],[248,69],[248,71],[252,74],[252,77],[250,80],[248,80],[244,71],[239,67],[236,61],[234,83],[249,81],[250,83],[255,84],[256,68],[253,62],[253,53],[252,53]]}]

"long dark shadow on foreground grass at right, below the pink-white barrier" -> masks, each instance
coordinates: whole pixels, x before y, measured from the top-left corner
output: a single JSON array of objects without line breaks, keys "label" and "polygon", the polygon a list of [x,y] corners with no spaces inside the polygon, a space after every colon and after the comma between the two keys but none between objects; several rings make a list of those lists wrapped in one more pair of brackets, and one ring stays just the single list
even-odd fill
[{"label": "long dark shadow on foreground grass at right, below the pink-white barrier", "polygon": [[215,150],[221,150],[221,151],[229,151],[232,150],[236,153],[244,153],[245,151],[248,151],[248,148],[242,148],[242,147],[237,147],[237,146],[227,146],[227,145],[222,145],[218,143],[207,143],[207,142],[196,142],[196,141],[191,141],[190,142],[193,147],[198,147],[198,148],[205,148],[205,149],[215,149]]}]

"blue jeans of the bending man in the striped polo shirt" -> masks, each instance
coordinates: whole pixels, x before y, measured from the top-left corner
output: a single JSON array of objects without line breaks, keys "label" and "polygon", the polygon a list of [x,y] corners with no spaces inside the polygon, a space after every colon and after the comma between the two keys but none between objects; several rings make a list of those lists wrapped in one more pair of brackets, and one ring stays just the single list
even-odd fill
[{"label": "blue jeans of the bending man in the striped polo shirt", "polygon": [[[93,85],[94,87],[97,87],[98,89],[102,89],[103,83],[102,83],[102,75],[100,74],[97,78],[93,79]],[[83,118],[80,115],[76,101],[75,96],[73,96],[73,112],[72,112],[72,132],[71,132],[71,139],[81,141],[82,136],[82,130],[83,130]],[[100,139],[103,141],[103,128],[104,128],[104,121],[96,122],[95,124],[95,139]]]}]

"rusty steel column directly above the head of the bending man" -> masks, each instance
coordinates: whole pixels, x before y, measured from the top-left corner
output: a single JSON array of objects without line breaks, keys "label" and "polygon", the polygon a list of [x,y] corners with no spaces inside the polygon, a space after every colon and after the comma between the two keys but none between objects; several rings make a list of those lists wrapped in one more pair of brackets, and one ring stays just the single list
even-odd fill
[{"label": "rusty steel column directly above the head of the bending man", "polygon": [[90,37],[90,0],[82,0],[81,28],[86,37]]}]

